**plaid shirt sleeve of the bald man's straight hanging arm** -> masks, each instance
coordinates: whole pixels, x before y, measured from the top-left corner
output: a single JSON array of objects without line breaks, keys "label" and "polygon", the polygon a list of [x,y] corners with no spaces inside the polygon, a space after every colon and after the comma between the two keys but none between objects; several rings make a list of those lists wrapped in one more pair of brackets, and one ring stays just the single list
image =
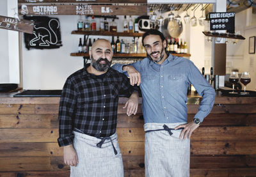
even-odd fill
[{"label": "plaid shirt sleeve of the bald man's straight hanging arm", "polygon": [[76,108],[76,90],[70,79],[67,79],[63,86],[60,98],[59,108],[59,146],[67,146],[73,143],[74,135],[72,134],[72,116]]}]

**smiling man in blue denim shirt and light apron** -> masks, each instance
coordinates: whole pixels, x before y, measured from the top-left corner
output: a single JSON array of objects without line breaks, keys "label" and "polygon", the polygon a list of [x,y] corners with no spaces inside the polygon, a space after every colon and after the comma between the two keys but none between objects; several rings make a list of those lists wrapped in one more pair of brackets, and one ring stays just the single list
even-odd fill
[{"label": "smiling man in blue denim shirt and light apron", "polygon": [[[147,58],[112,66],[140,85],[145,134],[145,176],[189,176],[190,137],[211,112],[215,91],[186,58],[166,52],[164,35],[156,29],[142,37]],[[187,90],[193,84],[202,101],[187,123]]]}]

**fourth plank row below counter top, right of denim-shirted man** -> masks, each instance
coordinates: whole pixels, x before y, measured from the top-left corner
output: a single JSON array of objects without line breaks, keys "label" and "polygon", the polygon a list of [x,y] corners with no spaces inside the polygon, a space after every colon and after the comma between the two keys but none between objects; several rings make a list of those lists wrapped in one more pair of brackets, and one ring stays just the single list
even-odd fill
[{"label": "fourth plank row below counter top, right of denim-shirted man", "polygon": [[256,141],[191,141],[191,155],[256,155]]}]

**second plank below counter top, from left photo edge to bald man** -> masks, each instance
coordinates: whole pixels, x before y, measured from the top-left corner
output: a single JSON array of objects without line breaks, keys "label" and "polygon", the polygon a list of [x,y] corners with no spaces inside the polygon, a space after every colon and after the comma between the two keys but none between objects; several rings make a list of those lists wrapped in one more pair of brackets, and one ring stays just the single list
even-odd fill
[{"label": "second plank below counter top, from left photo edge to bald man", "polygon": [[0,115],[1,128],[58,128],[58,114]]}]

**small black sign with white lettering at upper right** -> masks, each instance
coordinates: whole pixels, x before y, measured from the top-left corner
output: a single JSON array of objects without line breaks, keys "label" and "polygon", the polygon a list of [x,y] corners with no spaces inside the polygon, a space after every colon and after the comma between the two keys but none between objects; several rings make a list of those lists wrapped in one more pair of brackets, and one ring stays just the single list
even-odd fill
[{"label": "small black sign with white lettering at upper right", "polygon": [[235,31],[235,12],[209,13],[210,30],[227,30],[230,33]]}]

